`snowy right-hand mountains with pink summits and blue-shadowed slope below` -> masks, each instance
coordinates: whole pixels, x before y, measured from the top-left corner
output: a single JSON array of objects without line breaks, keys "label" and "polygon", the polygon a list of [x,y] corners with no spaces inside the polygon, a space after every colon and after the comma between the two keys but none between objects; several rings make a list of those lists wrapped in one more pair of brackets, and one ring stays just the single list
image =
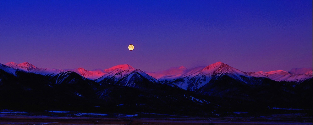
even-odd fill
[{"label": "snowy right-hand mountains with pink summits and blue-shadowed slope below", "polygon": [[[242,76],[249,79],[257,78],[269,78],[275,81],[289,81],[289,82],[302,82],[306,79],[312,78],[312,70],[310,68],[293,69],[290,73],[277,70],[271,72],[242,72],[236,68],[233,68],[225,63],[217,62],[211,64],[205,68],[183,69],[171,68],[169,70],[148,73],[151,76],[158,78],[159,81],[178,88],[183,88],[189,91],[196,91],[198,88],[204,86],[206,83],[214,77],[218,78],[222,75],[227,75],[231,78],[237,79],[246,84],[259,84],[260,82],[246,81]],[[293,74],[292,74],[293,73]],[[301,74],[305,73],[305,74]]]}]

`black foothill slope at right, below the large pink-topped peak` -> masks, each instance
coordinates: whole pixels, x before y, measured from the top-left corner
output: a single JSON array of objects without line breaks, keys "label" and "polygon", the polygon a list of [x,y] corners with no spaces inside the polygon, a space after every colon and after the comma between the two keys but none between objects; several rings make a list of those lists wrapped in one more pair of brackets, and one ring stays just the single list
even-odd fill
[{"label": "black foothill slope at right, below the large pink-topped peak", "polygon": [[[297,87],[312,88],[312,78],[301,83],[278,82],[269,78],[251,78],[241,76],[243,81],[222,75],[220,78],[212,78],[209,83],[199,88],[195,93],[221,98],[232,98],[245,102],[258,102],[259,108],[310,108],[312,102],[312,90]],[[250,84],[247,84],[250,83]],[[310,93],[310,94],[309,94]],[[250,105],[246,108],[255,108]]]}]

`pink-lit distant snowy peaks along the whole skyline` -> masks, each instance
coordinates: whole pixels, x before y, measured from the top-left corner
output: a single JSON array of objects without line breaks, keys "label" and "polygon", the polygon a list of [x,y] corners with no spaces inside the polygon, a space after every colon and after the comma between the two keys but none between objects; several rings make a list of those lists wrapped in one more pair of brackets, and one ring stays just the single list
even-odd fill
[{"label": "pink-lit distant snowy peaks along the whole skyline", "polygon": [[[55,73],[64,72],[64,71],[73,71],[75,73],[80,74],[81,76],[95,80],[100,77],[103,77],[108,74],[112,74],[112,72],[119,73],[124,70],[135,70],[132,66],[128,64],[117,65],[108,69],[96,69],[88,71],[84,68],[76,68],[76,69],[49,69],[49,68],[37,68],[34,65],[25,62],[25,63],[14,63],[9,62],[5,64],[6,66],[14,69],[23,70],[30,73],[42,74],[42,75],[53,75]],[[312,68],[293,68],[290,72],[277,70],[270,72],[243,72],[236,68],[233,68],[225,63],[217,62],[211,64],[207,67],[196,67],[192,69],[187,69],[184,66],[174,67],[168,70],[160,71],[160,72],[147,72],[153,78],[156,78],[160,81],[164,80],[173,80],[177,78],[184,78],[190,75],[204,73],[206,75],[215,75],[215,74],[233,74],[233,75],[243,75],[243,76],[251,76],[251,77],[264,77],[270,78],[275,81],[303,81],[305,79],[312,77]],[[114,74],[114,73],[113,73]]]}]

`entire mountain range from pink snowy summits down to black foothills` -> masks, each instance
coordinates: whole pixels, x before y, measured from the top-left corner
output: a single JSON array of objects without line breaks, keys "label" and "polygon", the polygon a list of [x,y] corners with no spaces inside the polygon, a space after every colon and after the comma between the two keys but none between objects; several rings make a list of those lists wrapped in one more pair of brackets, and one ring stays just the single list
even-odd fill
[{"label": "entire mountain range from pink snowy summits down to black foothills", "polygon": [[278,107],[309,113],[311,99],[312,68],[243,72],[217,62],[152,73],[127,64],[92,71],[0,64],[0,107],[10,109],[228,115]]}]

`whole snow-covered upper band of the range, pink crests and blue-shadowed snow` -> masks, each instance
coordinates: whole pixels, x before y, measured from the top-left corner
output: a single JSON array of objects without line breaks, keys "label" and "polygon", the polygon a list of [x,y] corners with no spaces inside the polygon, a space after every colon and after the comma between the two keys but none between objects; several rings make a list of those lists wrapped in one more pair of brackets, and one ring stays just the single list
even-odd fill
[{"label": "whole snow-covered upper band of the range, pink crests and blue-shadowed snow", "polygon": [[[6,65],[6,66],[5,66]],[[97,69],[88,71],[84,68],[77,69],[50,69],[50,68],[37,68],[34,65],[25,63],[14,63],[9,62],[1,66],[1,69],[8,73],[15,74],[17,70],[23,70],[25,72],[41,74],[44,76],[55,76],[59,73],[64,73],[67,71],[73,71],[81,76],[94,80],[96,82],[104,82],[107,80],[118,81],[121,78],[127,76],[129,73],[135,71],[135,68],[128,64],[113,66],[108,69]],[[240,76],[246,77],[264,77],[270,78],[275,81],[297,81],[301,82],[305,79],[312,78],[312,68],[294,68],[290,72],[277,70],[271,72],[242,72],[236,68],[233,68],[225,63],[217,62],[206,67],[196,67],[192,69],[187,69],[184,66],[174,67],[168,70],[160,72],[148,72],[136,71],[142,76],[148,78],[151,81],[163,83],[175,83],[174,86],[178,86],[184,89],[197,89],[208,83],[212,77],[219,77],[222,75],[228,75],[232,78],[241,80]]]}]

